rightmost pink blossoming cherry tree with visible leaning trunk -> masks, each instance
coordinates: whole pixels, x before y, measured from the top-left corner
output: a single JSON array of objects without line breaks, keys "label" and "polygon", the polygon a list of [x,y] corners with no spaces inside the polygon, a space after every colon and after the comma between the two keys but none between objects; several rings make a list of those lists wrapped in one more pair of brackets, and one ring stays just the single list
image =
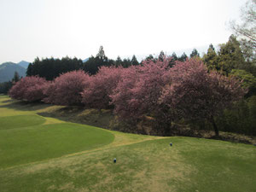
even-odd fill
[{"label": "rightmost pink blossoming cherry tree with visible leaning trunk", "polygon": [[207,119],[218,137],[214,117],[240,100],[247,90],[232,77],[208,73],[198,59],[177,62],[170,73],[170,84],[163,89],[160,103],[179,110],[184,119]]}]

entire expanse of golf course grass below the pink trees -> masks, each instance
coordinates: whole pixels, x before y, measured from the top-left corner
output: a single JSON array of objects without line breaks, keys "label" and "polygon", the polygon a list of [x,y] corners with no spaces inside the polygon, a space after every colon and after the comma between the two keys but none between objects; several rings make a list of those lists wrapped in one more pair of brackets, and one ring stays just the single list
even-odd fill
[{"label": "entire expanse of golf course grass below the pink trees", "polygon": [[0,96],[1,192],[256,191],[253,145],[125,134],[42,110]]}]

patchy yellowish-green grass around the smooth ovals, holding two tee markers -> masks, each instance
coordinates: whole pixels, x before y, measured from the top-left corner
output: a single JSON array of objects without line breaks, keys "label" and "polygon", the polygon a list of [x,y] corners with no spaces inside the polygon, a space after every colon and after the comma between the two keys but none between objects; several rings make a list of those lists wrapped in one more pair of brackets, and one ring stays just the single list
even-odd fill
[{"label": "patchy yellowish-green grass around the smooth ovals, holding two tee markers", "polygon": [[[28,115],[43,108],[47,110],[46,106],[12,106],[7,97],[1,97],[0,102],[0,116]],[[45,119],[44,125],[64,123]],[[43,125],[39,125],[39,129],[40,126]],[[101,148],[69,152],[59,158],[0,170],[0,191],[256,189],[256,148],[252,145],[108,132],[114,135],[114,141]],[[170,142],[173,143],[172,148]],[[113,158],[117,158],[116,164],[113,164]]]}]

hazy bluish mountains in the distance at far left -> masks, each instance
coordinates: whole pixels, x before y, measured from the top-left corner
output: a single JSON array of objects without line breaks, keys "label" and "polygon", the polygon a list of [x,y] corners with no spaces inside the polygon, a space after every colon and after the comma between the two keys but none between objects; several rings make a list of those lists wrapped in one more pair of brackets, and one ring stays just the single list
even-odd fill
[{"label": "hazy bluish mountains in the distance at far left", "polygon": [[4,62],[0,65],[0,83],[13,79],[15,72],[19,73],[20,77],[26,77],[26,68],[13,62]]}]

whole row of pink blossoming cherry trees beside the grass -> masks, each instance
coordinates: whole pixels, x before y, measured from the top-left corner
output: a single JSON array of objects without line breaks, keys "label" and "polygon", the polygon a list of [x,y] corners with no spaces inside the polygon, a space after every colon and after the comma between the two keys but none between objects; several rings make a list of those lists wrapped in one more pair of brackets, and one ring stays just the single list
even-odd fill
[{"label": "whole row of pink blossoming cherry trees beside the grass", "polygon": [[145,116],[166,135],[180,119],[207,120],[218,136],[216,118],[247,89],[234,77],[210,71],[199,58],[143,61],[140,66],[101,67],[96,75],[73,71],[53,81],[38,76],[20,79],[9,96],[26,102],[42,101],[84,108],[113,108],[121,120],[137,124]]}]

